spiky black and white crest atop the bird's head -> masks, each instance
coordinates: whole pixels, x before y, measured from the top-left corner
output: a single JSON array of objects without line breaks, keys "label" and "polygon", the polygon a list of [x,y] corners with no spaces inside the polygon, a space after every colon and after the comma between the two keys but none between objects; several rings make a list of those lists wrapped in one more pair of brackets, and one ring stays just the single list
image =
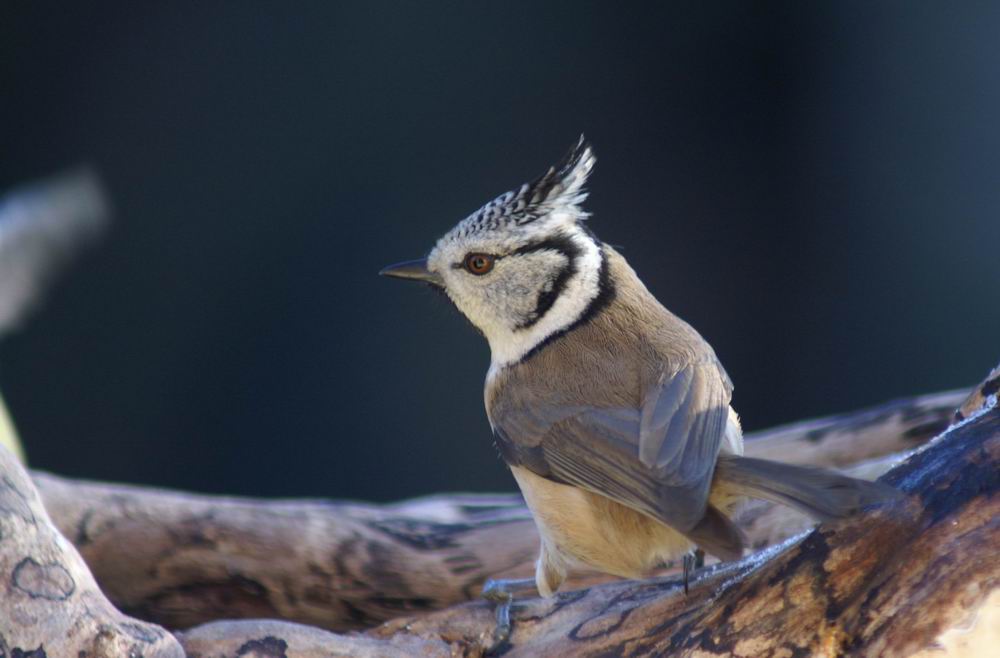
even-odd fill
[{"label": "spiky black and white crest atop the bird's head", "polygon": [[580,204],[587,198],[584,185],[596,160],[590,144],[580,135],[559,164],[474,212],[459,224],[460,234],[524,226],[558,212],[571,214],[574,219],[585,219],[587,213]]}]

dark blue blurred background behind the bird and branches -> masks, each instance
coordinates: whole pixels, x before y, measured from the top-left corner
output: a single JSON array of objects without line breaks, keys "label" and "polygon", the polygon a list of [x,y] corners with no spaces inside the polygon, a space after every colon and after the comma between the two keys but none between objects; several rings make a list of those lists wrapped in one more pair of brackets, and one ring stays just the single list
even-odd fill
[{"label": "dark blue blurred background behind the bird and branches", "polygon": [[592,227],[749,429],[1000,351],[1000,5],[0,6],[0,188],[116,206],[0,346],[32,463],[386,500],[512,480],[485,343],[380,279],[581,132]]}]

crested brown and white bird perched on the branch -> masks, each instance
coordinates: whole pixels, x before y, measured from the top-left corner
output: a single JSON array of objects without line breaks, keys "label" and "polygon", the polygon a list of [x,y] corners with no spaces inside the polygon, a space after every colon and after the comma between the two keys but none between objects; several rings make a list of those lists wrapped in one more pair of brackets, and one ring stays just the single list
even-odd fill
[{"label": "crested brown and white bird perched on the branch", "polygon": [[693,551],[740,558],[749,498],[817,519],[894,497],[887,485],[743,456],[733,384],[709,343],[667,310],[590,227],[596,158],[566,156],[380,274],[443,291],[486,338],[496,447],[540,536],[535,577],[490,581],[509,636],[517,588],[552,596],[574,567],[642,578]]}]

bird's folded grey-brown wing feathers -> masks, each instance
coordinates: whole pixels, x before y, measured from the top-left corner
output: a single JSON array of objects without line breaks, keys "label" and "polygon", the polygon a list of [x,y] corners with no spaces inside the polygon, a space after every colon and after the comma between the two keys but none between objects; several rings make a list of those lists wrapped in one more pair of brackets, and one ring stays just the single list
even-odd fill
[{"label": "bird's folded grey-brown wing feathers", "polygon": [[491,416],[509,464],[686,532],[705,517],[731,394],[708,361],[665,373],[638,409],[538,405],[514,393]]}]

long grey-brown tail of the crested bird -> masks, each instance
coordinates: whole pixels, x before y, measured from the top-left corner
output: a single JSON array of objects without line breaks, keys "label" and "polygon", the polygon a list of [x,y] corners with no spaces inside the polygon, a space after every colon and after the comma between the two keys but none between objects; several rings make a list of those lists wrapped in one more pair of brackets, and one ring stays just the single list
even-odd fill
[{"label": "long grey-brown tail of the crested bird", "polygon": [[821,521],[850,516],[900,496],[880,482],[752,457],[720,455],[715,477],[743,495],[795,507]]}]

